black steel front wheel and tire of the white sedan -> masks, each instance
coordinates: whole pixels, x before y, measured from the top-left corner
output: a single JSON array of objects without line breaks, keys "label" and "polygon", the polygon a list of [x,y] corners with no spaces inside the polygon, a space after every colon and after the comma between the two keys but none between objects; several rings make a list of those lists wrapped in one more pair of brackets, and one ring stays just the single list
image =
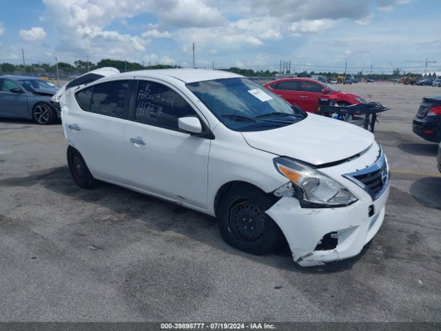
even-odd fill
[{"label": "black steel front wheel and tire of the white sedan", "polygon": [[252,186],[230,189],[218,209],[218,227],[223,239],[234,248],[256,255],[280,248],[283,234],[265,214],[274,201]]}]

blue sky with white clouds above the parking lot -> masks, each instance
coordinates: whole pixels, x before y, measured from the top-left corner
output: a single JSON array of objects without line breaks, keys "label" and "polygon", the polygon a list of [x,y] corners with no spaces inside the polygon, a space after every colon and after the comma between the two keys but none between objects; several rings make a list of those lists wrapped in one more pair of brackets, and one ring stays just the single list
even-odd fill
[{"label": "blue sky with white clouds above the parking lot", "polygon": [[[0,62],[441,71],[438,0],[0,0]],[[421,62],[422,61],[422,62]]]}]

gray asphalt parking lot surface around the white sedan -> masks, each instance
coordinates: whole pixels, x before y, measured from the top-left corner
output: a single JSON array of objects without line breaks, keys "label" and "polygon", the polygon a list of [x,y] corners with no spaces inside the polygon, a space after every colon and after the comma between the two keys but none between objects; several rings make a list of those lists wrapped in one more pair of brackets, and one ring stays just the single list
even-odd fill
[{"label": "gray asphalt parking lot surface around the white sedan", "polygon": [[231,248],[204,214],[107,183],[82,190],[59,123],[1,119],[0,320],[441,321],[437,145],[411,131],[441,89],[337,88],[391,108],[376,126],[391,193],[358,257],[315,268]]}]

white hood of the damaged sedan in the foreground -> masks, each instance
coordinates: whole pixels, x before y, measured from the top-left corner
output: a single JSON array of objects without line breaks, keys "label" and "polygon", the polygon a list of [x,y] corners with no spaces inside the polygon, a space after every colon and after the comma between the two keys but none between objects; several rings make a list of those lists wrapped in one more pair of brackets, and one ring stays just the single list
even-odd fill
[{"label": "white hood of the damaged sedan in the foreground", "polygon": [[371,132],[315,114],[283,128],[242,134],[252,148],[313,165],[353,157],[373,143]]}]

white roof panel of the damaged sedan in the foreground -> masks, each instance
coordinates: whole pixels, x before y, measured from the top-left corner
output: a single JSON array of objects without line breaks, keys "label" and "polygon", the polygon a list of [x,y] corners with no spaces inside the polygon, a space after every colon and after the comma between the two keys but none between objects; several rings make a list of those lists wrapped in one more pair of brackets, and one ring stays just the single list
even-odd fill
[{"label": "white roof panel of the damaged sedan in the foreground", "polygon": [[234,74],[223,70],[205,70],[205,69],[158,69],[158,70],[139,70],[123,72],[113,77],[149,77],[157,79],[179,79],[184,83],[193,83],[195,81],[211,81],[212,79],[237,78],[243,77],[240,74]]}]

